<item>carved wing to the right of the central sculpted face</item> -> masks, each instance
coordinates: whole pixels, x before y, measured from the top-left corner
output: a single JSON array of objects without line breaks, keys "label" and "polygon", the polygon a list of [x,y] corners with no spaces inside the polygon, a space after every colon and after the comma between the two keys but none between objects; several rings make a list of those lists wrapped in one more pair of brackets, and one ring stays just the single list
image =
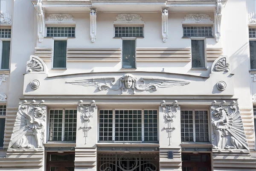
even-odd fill
[{"label": "carved wing to the right of the central sculpted face", "polygon": [[157,88],[166,88],[174,86],[183,86],[189,84],[189,81],[177,81],[177,80],[167,80],[167,79],[155,79],[155,78],[140,78],[143,84],[140,84],[139,90],[157,90]]}]

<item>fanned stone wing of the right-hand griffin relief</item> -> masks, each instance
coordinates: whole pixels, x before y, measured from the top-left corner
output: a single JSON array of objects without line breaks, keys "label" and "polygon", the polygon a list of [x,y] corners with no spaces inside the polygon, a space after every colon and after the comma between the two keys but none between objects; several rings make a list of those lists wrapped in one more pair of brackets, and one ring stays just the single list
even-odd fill
[{"label": "fanned stone wing of the right-hand griffin relief", "polygon": [[229,128],[227,129],[239,142],[241,142],[242,145],[244,145],[247,150],[249,150],[248,143],[246,140],[244,128],[242,119],[240,116],[239,108],[238,106],[233,106],[234,112],[228,116],[228,120],[232,124],[229,125]]}]

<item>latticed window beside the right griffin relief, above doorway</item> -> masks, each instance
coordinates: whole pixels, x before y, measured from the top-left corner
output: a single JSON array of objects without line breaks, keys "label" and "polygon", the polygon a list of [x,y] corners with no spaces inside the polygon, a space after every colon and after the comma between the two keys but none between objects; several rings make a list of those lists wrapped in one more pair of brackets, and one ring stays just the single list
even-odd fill
[{"label": "latticed window beside the right griffin relief, above doorway", "polygon": [[209,142],[207,110],[180,111],[181,142]]}]

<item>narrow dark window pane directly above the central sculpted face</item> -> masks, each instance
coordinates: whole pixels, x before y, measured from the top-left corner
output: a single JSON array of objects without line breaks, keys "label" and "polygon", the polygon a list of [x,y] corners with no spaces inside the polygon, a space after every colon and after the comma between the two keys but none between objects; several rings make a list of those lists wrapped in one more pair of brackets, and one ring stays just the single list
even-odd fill
[{"label": "narrow dark window pane directly above the central sculpted face", "polygon": [[122,67],[135,68],[136,64],[136,43],[135,40],[122,41]]}]

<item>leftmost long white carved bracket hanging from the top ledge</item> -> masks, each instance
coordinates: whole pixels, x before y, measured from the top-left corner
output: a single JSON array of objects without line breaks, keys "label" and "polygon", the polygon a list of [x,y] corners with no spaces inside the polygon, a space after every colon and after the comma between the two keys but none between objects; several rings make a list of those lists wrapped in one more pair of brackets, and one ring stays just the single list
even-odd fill
[{"label": "leftmost long white carved bracket hanging from the top ledge", "polygon": [[36,12],[37,12],[36,16],[38,20],[38,40],[39,42],[42,42],[44,38],[44,29],[45,29],[44,9],[42,8],[42,0],[38,0]]}]

